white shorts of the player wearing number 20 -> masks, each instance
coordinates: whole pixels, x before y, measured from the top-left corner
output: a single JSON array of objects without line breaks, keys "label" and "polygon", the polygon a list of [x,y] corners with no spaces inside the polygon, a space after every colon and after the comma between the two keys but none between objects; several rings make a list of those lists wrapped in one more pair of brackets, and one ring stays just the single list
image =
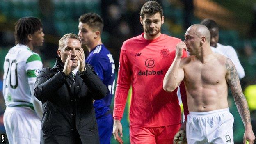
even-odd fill
[{"label": "white shorts of the player wearing number 20", "polygon": [[40,144],[41,121],[26,107],[6,107],[5,131],[9,144]]}]

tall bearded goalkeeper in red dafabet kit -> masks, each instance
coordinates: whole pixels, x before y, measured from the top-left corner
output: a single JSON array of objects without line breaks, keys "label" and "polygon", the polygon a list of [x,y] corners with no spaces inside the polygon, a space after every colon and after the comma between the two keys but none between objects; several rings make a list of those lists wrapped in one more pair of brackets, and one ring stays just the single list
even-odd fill
[{"label": "tall bearded goalkeeper in red dafabet kit", "polygon": [[[181,108],[177,89],[167,93],[162,83],[181,39],[161,34],[164,16],[158,2],[148,1],[143,5],[140,22],[144,32],[126,40],[121,48],[113,135],[120,144],[123,143],[120,121],[132,85],[130,143],[172,144],[174,135],[181,127]],[[183,57],[187,57],[185,51]],[[183,83],[180,89],[186,116],[188,111]]]}]

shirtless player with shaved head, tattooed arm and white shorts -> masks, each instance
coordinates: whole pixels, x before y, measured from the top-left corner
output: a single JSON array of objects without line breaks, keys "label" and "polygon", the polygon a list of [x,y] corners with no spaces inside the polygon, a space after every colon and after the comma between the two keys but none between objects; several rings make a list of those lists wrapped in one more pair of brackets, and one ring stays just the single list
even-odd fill
[{"label": "shirtless player with shaved head, tattooed arm and white shorts", "polygon": [[[182,58],[182,50],[190,57]],[[233,144],[233,116],[229,113],[228,87],[245,126],[244,144],[254,143],[250,112],[232,61],[210,48],[210,31],[190,26],[185,41],[176,46],[176,57],[167,71],[163,88],[174,91],[184,79],[187,91],[186,137],[188,144]]]}]

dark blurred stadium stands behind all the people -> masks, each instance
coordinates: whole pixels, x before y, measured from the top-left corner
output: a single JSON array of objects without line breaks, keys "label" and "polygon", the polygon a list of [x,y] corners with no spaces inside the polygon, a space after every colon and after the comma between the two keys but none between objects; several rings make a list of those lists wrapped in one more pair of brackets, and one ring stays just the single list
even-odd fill
[{"label": "dark blurred stadium stands behind all the people", "polygon": [[[9,48],[14,46],[14,23],[23,16],[36,16],[43,22],[45,43],[34,48],[51,67],[57,56],[57,44],[64,34],[78,33],[81,14],[95,12],[104,20],[103,43],[111,51],[116,68],[123,41],[143,32],[139,11],[147,0],[1,0],[0,1],[0,134],[5,134],[2,96],[3,62]],[[240,80],[251,111],[256,134],[256,0],[157,0],[164,9],[162,33],[184,40],[187,27],[211,18],[220,27],[219,43],[231,45],[245,69]],[[113,105],[113,104],[112,104]],[[235,118],[235,144],[242,144],[244,127],[231,94],[229,108]],[[122,119],[123,140],[129,143],[129,103]],[[5,138],[6,142],[7,138]],[[7,142],[6,142],[7,143]],[[112,144],[116,144],[112,138]]]}]

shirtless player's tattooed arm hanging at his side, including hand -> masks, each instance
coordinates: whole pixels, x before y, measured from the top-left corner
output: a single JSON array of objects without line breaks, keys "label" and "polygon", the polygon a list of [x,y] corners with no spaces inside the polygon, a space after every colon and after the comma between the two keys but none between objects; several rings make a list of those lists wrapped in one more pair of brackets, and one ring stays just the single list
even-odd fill
[{"label": "shirtless player's tattooed arm hanging at his side, including hand", "polygon": [[250,111],[245,95],[242,93],[238,73],[235,69],[235,65],[229,58],[226,59],[225,65],[227,69],[226,81],[229,84],[233,98],[235,99],[236,107],[245,126],[244,144],[246,143],[246,140],[249,140],[249,144],[253,144],[255,136],[252,131]]}]

